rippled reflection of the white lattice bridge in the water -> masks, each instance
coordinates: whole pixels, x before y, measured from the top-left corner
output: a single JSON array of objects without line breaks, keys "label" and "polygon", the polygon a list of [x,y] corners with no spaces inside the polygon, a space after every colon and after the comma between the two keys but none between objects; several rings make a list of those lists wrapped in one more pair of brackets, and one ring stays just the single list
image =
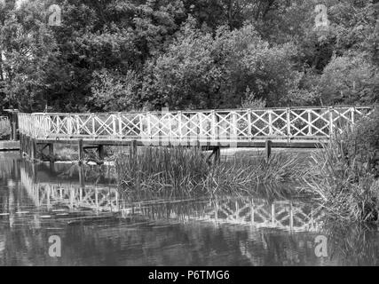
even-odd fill
[{"label": "rippled reflection of the white lattice bridge in the water", "polygon": [[46,170],[49,169],[36,169],[35,165],[26,161],[20,165],[20,182],[37,208],[87,209],[95,213],[118,213],[124,218],[140,216],[154,221],[251,225],[255,228],[294,232],[318,232],[323,225],[321,209],[299,201],[268,202],[253,197],[132,201],[122,197],[115,183],[109,184],[112,180],[115,182],[109,171],[105,179],[107,183],[99,183],[101,178],[98,177],[90,185],[88,179],[93,174],[91,168],[69,165],[54,178]]}]

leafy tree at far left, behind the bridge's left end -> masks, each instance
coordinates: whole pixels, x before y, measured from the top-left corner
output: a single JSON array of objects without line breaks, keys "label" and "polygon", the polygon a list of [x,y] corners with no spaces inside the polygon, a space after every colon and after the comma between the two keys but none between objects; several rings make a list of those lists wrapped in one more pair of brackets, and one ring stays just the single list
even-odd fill
[{"label": "leafy tree at far left, behind the bridge's left end", "polygon": [[9,12],[0,30],[4,92],[9,104],[20,110],[43,107],[46,79],[58,68],[59,51],[44,19],[41,2],[27,3]]}]

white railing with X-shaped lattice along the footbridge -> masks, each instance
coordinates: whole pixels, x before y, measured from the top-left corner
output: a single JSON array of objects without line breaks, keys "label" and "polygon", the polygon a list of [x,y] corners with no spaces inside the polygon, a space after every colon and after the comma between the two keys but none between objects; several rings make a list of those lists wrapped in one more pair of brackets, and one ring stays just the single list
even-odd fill
[{"label": "white railing with X-shaped lattice along the footbridge", "polygon": [[[328,139],[373,106],[235,109],[157,113],[19,114],[20,133],[36,139],[138,140],[183,145]],[[191,144],[192,145],[192,144]]]}]

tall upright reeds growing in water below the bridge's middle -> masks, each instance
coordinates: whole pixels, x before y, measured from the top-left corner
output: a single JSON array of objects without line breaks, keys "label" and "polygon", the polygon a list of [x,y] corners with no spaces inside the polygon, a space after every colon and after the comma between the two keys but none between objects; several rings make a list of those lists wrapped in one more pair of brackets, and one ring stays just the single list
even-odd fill
[{"label": "tall upright reeds growing in water below the bridge's middle", "polygon": [[259,184],[296,180],[304,163],[297,154],[263,154],[254,158],[209,162],[197,148],[141,149],[138,154],[117,154],[115,167],[123,192],[138,191],[175,195],[251,193]]}]

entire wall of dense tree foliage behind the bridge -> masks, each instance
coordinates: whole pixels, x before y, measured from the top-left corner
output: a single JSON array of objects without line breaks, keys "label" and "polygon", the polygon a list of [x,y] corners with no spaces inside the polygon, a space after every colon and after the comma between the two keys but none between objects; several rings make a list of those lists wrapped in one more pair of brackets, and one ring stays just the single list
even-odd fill
[{"label": "entire wall of dense tree foliage behind the bridge", "polygon": [[[0,2],[0,108],[371,104],[377,0]],[[48,25],[50,4],[62,24]],[[328,28],[315,28],[316,4]]]}]

